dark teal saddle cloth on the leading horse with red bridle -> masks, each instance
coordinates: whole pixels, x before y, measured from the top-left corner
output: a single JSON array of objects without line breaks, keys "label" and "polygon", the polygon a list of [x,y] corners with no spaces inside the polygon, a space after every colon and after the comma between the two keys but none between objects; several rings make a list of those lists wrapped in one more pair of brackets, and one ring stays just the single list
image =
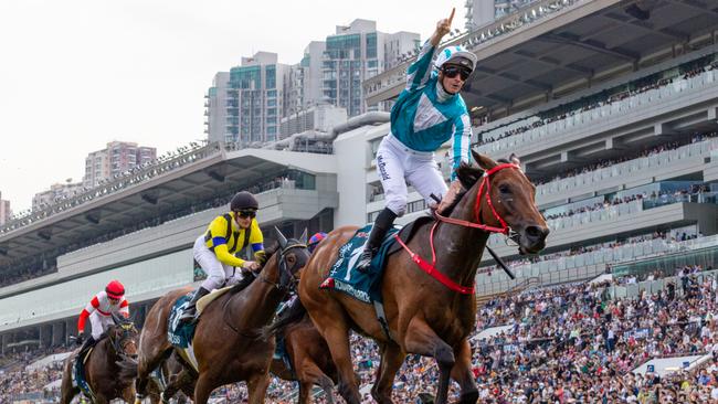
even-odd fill
[{"label": "dark teal saddle cloth on the leading horse with red bridle", "polygon": [[394,244],[398,228],[390,228],[381,243],[379,252],[371,261],[369,273],[357,270],[357,262],[365,249],[371,225],[357,230],[355,235],[339,248],[337,262],[331,266],[329,276],[319,286],[321,289],[334,289],[347,294],[358,300],[371,304],[382,301],[381,276],[388,251]]}]

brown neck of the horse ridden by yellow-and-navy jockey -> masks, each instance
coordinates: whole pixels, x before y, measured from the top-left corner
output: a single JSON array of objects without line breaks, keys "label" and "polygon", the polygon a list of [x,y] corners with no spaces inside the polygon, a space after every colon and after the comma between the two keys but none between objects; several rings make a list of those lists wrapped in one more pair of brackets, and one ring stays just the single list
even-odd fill
[{"label": "brown neck of the horse ridden by yellow-and-navy jockey", "polygon": [[[284,293],[274,286],[279,283],[279,268],[278,263],[274,265],[273,261],[276,262],[276,258],[271,259],[257,278],[244,291],[235,295],[230,302],[233,306],[231,313],[234,316],[231,321],[240,328],[252,329],[266,326],[284,297]],[[262,280],[263,277],[270,283]]]}]

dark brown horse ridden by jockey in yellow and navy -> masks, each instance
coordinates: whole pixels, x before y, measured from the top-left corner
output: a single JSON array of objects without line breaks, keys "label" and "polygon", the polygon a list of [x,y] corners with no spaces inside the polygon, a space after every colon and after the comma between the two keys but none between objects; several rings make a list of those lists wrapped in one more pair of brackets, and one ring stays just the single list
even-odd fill
[{"label": "dark brown horse ridden by jockey in yellow and navy", "polygon": [[[229,291],[218,297],[200,317],[192,340],[198,368],[182,360],[184,369],[173,378],[197,380],[196,404],[207,403],[214,389],[239,381],[246,381],[250,403],[264,401],[275,343],[274,339],[263,338],[261,331],[274,317],[282,299],[295,288],[294,274],[309,257],[305,241],[287,241],[278,231],[277,237],[279,245],[276,251],[267,252],[270,258],[258,278],[242,293]],[[170,291],[147,313],[139,341],[137,403],[148,393],[150,372],[175,351],[167,340],[168,316],[175,301],[188,290]],[[171,384],[162,394],[165,401],[171,396],[169,392],[178,389]]]}]

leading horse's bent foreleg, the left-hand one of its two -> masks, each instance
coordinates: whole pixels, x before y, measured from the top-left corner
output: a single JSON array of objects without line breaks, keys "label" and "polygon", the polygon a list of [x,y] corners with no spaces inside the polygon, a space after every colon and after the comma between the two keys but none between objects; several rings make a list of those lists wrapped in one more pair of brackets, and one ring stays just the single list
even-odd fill
[{"label": "leading horse's bent foreleg, the left-hand one of its two", "polygon": [[433,357],[439,364],[439,387],[436,387],[436,404],[448,401],[448,376],[456,362],[454,350],[421,318],[414,317],[406,329],[404,348],[406,352]]}]

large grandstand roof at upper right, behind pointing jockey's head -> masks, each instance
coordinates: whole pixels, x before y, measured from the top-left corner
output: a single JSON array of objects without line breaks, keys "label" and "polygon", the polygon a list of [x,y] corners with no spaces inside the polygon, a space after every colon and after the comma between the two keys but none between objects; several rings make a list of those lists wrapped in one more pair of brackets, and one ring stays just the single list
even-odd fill
[{"label": "large grandstand roof at upper right, behind pointing jockey's head", "polygon": [[[579,1],[566,8],[561,2],[555,3],[536,2],[450,42],[467,45],[479,60],[462,92],[469,107],[515,109],[521,102],[556,94],[563,86],[580,81],[585,86],[588,79],[635,70],[651,63],[647,61],[689,52],[699,43],[712,43],[712,31],[718,29],[715,0],[657,0],[648,10],[647,20],[626,12],[634,1]],[[559,11],[545,11],[549,8]],[[482,35],[493,39],[484,40]],[[403,76],[408,65],[409,62],[368,79],[368,103],[395,97],[403,81],[388,78]],[[371,89],[372,85],[381,88]]]}]

